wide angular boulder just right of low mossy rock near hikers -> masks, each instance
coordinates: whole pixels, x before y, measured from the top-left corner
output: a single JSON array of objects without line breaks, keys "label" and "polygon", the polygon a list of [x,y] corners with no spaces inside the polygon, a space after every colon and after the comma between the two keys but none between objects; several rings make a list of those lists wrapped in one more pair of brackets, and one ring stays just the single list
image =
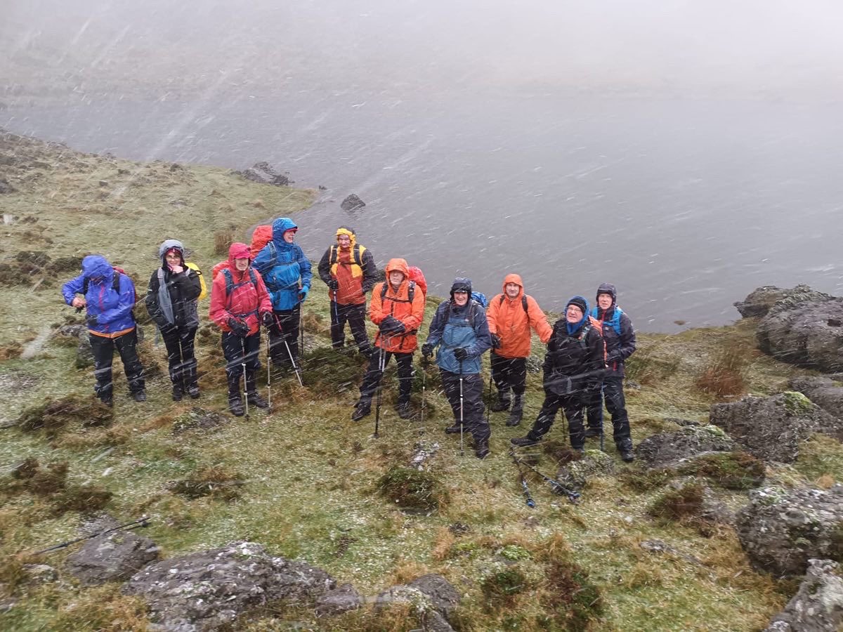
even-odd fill
[{"label": "wide angular boulder just right of low mossy rock near hikers", "polygon": [[843,428],[843,421],[792,391],[714,404],[709,416],[755,458],[780,463],[795,461],[799,444],[814,432],[837,435]]}]

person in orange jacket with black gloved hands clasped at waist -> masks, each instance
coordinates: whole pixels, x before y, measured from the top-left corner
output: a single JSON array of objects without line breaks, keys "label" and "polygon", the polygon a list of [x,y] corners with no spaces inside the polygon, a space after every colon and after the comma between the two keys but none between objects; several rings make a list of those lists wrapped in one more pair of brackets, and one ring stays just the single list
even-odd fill
[{"label": "person in orange jacket with black gloved hands clasped at waist", "polygon": [[372,290],[369,319],[378,325],[374,353],[360,385],[360,399],[354,406],[352,421],[359,421],[372,412],[372,396],[384,376],[384,367],[395,356],[398,364],[398,416],[410,419],[410,391],[413,383],[413,351],[416,331],[424,319],[424,293],[410,281],[410,269],[403,259],[390,259],[386,265],[386,281]]}]

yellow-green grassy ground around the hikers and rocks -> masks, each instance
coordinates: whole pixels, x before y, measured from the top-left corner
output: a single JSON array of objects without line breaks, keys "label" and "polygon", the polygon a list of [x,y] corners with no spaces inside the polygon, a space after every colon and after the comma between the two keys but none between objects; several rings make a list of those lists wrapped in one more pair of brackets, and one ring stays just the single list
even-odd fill
[{"label": "yellow-green grassy ground around the hikers and rocks", "polygon": [[[47,249],[54,257],[99,251],[136,272],[144,286],[164,238],[182,238],[194,250],[192,259],[209,271],[219,259],[213,254],[214,233],[234,224],[239,238],[244,238],[244,229],[255,222],[298,211],[311,200],[307,191],[254,185],[220,169],[127,163],[37,142],[15,152],[29,152],[48,166],[31,169],[29,162],[19,163],[20,173],[30,179],[14,182],[19,193],[3,196],[3,212],[19,217],[3,227],[3,256],[8,260],[22,249]],[[117,169],[131,173],[118,175]],[[40,177],[31,179],[32,174]],[[99,185],[100,179],[107,184]],[[24,223],[24,217],[38,221]],[[423,267],[423,262],[416,263]],[[56,279],[48,288],[43,283],[37,289],[31,284],[0,287],[0,348],[16,340],[37,340],[49,332],[50,324],[75,318],[62,306],[59,284]],[[327,344],[328,302],[319,285],[305,310],[314,314],[310,350]],[[431,298],[426,322],[433,309]],[[675,430],[678,426],[666,420],[669,417],[706,419],[713,399],[694,388],[694,381],[724,349],[745,351],[749,392],[780,389],[795,370],[754,351],[753,338],[754,324],[747,321],[679,335],[642,335],[631,370],[643,388],[628,391],[636,441],[656,431]],[[202,398],[196,403],[224,410],[217,335],[208,340],[210,344],[199,351],[206,374],[201,380]],[[537,356],[538,346],[534,345]],[[30,360],[0,363],[4,387],[0,420],[15,419],[44,398],[90,393],[90,371],[73,368],[74,349],[51,342],[39,349]],[[162,348],[150,341],[143,353],[147,363],[164,362]],[[251,539],[272,553],[319,565],[368,595],[425,571],[442,572],[464,592],[463,629],[534,629],[543,615],[534,597],[548,589],[543,579],[535,579],[530,590],[515,595],[506,608],[487,607],[480,583],[500,565],[498,553],[505,544],[523,547],[532,559],[560,537],[572,559],[588,570],[604,594],[600,623],[604,629],[758,629],[787,600],[770,578],[749,569],[730,529],[705,538],[694,528],[660,526],[649,519],[647,505],[658,490],[639,494],[621,478],[593,479],[582,504],[571,506],[532,481],[538,506],[530,510],[524,506],[506,453],[509,437],[524,429],[506,428],[505,415],[493,415],[491,457],[480,462],[470,450],[469,456],[460,457],[459,439],[445,437],[440,430],[449,411],[443,397],[432,393],[434,372],[427,380],[424,424],[397,418],[391,406],[395,376],[388,373],[381,437],[373,439],[373,417],[360,424],[348,420],[362,365],[342,362],[345,368],[337,370],[330,360],[311,356],[307,388],[298,388],[289,376],[277,381],[272,389],[276,406],[270,415],[255,412],[250,420],[233,421],[216,432],[189,431],[178,437],[170,420],[193,402],[173,403],[166,381],[156,378],[148,386],[148,403],[130,404],[125,383],[119,381],[116,423],[110,433],[72,428],[48,442],[37,433],[3,430],[0,466],[8,469],[27,456],[42,463],[69,461],[69,479],[94,482],[114,492],[109,511],[115,516],[132,519],[148,513],[153,525],[146,534],[167,556]],[[420,382],[419,377],[416,386]],[[417,403],[420,393],[414,397]],[[525,419],[533,419],[539,407],[540,377],[531,374]],[[553,437],[561,438],[558,424]],[[377,494],[379,477],[390,466],[407,463],[412,445],[420,440],[439,442],[432,472],[449,492],[448,504],[431,516],[408,515]],[[610,445],[608,450],[619,471],[634,469],[622,465]],[[212,465],[246,480],[238,500],[188,501],[168,490],[169,481]],[[546,457],[541,467],[552,471]],[[843,479],[839,445],[819,439],[808,442],[802,461],[787,474],[794,481],[823,475]],[[733,506],[741,504],[738,494],[723,492],[723,497]],[[77,535],[74,512],[54,517],[45,500],[29,494],[0,495],[0,502],[3,557]],[[454,535],[448,527],[457,522],[467,525],[469,533]],[[679,554],[647,553],[638,546],[647,538],[663,538],[701,564]],[[63,556],[52,554],[45,561],[60,566]],[[8,573],[2,579],[9,581]],[[92,591],[73,586],[67,576],[64,579],[68,583],[18,586],[13,597],[18,603],[0,615],[0,625],[61,629],[72,621],[75,629],[142,629],[142,613],[134,601],[119,597],[113,588]],[[6,592],[12,592],[10,584]],[[263,613],[242,627],[272,629],[284,616]],[[314,623],[309,613],[295,613],[293,618],[309,621],[312,629],[367,625],[366,629],[387,629],[383,622],[373,623],[368,613],[321,624]],[[396,625],[394,629],[406,629]],[[547,629],[558,627],[550,624]]]}]

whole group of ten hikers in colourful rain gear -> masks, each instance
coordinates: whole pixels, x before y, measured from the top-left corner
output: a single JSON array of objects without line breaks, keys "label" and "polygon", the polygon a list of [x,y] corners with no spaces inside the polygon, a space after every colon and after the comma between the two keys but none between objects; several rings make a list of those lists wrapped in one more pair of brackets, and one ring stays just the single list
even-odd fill
[{"label": "whole group of ten hikers in colourful rain gear", "polygon": [[[287,217],[255,229],[251,245],[234,243],[228,260],[214,267],[210,319],[222,331],[228,381],[228,408],[235,416],[249,406],[266,409],[257,391],[260,369],[260,329],[267,330],[267,362],[298,373],[298,335],[301,305],[313,279],[311,265],[295,243],[298,227]],[[167,350],[173,399],[200,397],[194,341],[199,327],[198,301],[205,284],[196,265],[185,261],[184,245],[168,239],[158,249],[160,265],[149,279],[145,299],[149,316]],[[350,228],[336,231],[319,261],[319,278],[330,295],[330,338],[336,350],[345,347],[349,325],[358,351],[368,356],[360,398],[352,420],[372,411],[384,369],[395,356],[399,394],[396,411],[410,419],[413,353],[424,319],[427,284],[421,270],[403,259],[391,259],[385,280],[377,281],[372,253],[357,244]],[[368,319],[378,327],[374,340],[366,331]],[[114,350],[123,362],[132,398],[146,399],[142,364],[137,356],[137,302],[132,280],[105,257],[84,257],[82,273],[62,286],[65,303],[86,311],[94,352],[94,393],[113,405],[111,363]],[[583,452],[587,437],[603,441],[604,403],[613,426],[620,457],[632,461],[629,418],[624,400],[624,362],[636,349],[629,316],[617,306],[615,286],[597,289],[596,305],[572,297],[564,316],[552,326],[533,297],[524,292],[517,274],[504,277],[502,292],[486,302],[473,292],[467,278],[454,279],[447,301],[440,303],[421,345],[422,363],[434,353],[445,396],[454,413],[448,434],[470,434],[477,458],[489,454],[491,428],[484,415],[481,356],[491,350],[491,381],[497,396],[495,412],[508,411],[507,426],[518,426],[524,415],[527,358],[532,332],[547,345],[543,385],[545,400],[533,426],[514,446],[533,446],[549,431],[561,408],[568,423],[571,447]],[[299,376],[300,379],[300,376]],[[241,391],[242,385],[242,391]],[[490,384],[491,388],[491,384]]]}]

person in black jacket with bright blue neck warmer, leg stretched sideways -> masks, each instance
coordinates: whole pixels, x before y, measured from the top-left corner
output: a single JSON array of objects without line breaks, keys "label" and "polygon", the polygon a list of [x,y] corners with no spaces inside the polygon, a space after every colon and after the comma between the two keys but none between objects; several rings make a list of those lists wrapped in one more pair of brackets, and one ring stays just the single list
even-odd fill
[{"label": "person in black jacket with bright blue neck warmer, leg stretched sideways", "polygon": [[603,337],[588,319],[588,301],[573,297],[565,308],[565,316],[553,325],[553,333],[545,355],[545,403],[526,437],[513,438],[516,446],[534,446],[541,441],[560,408],[565,411],[571,447],[578,452],[585,448],[583,407],[587,394],[599,388],[603,378]]}]

